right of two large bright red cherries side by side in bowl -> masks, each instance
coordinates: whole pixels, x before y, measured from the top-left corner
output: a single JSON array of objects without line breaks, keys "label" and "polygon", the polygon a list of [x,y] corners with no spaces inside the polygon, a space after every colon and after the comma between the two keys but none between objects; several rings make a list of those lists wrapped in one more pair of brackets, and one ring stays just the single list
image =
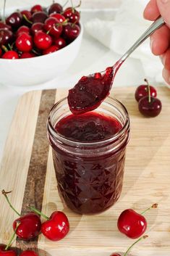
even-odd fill
[{"label": "right of two large bright red cherries side by side in bowl", "polygon": [[51,36],[47,35],[42,31],[38,31],[34,36],[34,44],[38,47],[38,49],[48,49],[52,44]]}]

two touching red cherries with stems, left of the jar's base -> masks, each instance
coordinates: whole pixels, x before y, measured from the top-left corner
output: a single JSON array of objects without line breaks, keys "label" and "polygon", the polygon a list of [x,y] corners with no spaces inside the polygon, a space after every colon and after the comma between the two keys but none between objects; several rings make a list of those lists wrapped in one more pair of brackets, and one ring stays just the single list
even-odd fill
[{"label": "two touching red cherries with stems, left of the jar's base", "polygon": [[[2,191],[9,206],[12,210],[20,216],[20,213],[14,209],[14,207],[9,202],[7,194],[9,192]],[[40,233],[42,233],[46,238],[51,241],[59,241],[64,239],[64,237],[69,232],[69,220],[64,212],[55,211],[51,214],[50,218],[44,215],[42,212],[36,210],[34,207],[28,206],[33,212],[28,212],[26,215],[20,216],[17,220],[14,220],[13,229],[16,228],[16,234],[20,239],[30,240],[34,239]],[[41,223],[39,215],[42,215],[46,219],[45,222]],[[17,226],[17,223],[19,225]]]}]

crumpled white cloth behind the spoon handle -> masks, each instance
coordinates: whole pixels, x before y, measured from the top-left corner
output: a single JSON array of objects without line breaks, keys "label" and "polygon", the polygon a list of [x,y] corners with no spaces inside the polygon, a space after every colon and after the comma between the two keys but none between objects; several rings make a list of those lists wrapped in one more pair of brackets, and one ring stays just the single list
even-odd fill
[{"label": "crumpled white cloth behind the spoon handle", "polygon": [[[85,28],[91,36],[122,56],[151,24],[143,18],[143,10],[147,3],[148,0],[122,0],[113,21],[95,18],[88,21]],[[164,83],[163,65],[159,57],[151,53],[149,39],[131,56],[140,59],[147,78]]]}]

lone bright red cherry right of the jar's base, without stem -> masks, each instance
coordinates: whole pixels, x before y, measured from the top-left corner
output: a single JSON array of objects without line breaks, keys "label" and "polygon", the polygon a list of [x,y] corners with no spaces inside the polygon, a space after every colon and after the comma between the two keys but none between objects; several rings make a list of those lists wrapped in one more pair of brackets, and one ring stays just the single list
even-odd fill
[{"label": "lone bright red cherry right of the jar's base, without stem", "polygon": [[137,239],[142,236],[147,228],[147,222],[143,215],[135,210],[124,210],[117,221],[117,227],[120,232],[131,239]]}]

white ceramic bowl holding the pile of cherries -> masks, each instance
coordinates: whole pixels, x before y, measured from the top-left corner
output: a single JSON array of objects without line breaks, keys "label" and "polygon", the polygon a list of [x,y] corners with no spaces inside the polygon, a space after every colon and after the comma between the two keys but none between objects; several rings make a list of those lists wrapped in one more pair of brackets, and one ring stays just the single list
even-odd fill
[{"label": "white ceramic bowl holding the pile of cherries", "polygon": [[32,86],[46,83],[64,73],[72,65],[80,49],[83,33],[81,22],[80,25],[80,35],[59,51],[27,59],[0,59],[0,84]]}]

